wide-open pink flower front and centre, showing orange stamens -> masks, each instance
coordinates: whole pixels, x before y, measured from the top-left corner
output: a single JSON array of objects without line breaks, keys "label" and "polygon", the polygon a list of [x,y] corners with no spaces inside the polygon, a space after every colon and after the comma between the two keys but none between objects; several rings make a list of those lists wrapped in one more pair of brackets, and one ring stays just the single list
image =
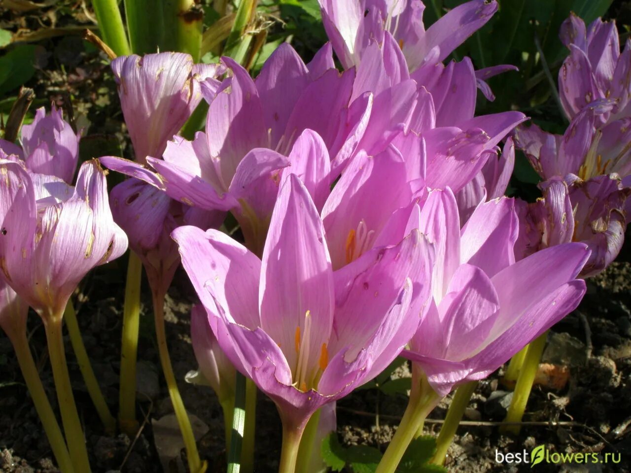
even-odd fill
[{"label": "wide-open pink flower front and centre, showing orange stamens", "polygon": [[182,263],[235,367],[300,431],[392,361],[422,320],[433,249],[418,231],[333,272],[317,209],[283,178],[262,261],[216,230],[177,228]]}]

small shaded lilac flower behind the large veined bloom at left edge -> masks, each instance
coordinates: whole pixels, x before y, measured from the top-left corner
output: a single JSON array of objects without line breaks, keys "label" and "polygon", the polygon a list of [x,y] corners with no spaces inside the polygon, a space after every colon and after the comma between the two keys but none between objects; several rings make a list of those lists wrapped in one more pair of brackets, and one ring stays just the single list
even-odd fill
[{"label": "small shaded lilac flower behind the large veined bloom at left edge", "polygon": [[44,107],[38,108],[32,124],[22,127],[21,147],[0,139],[0,151],[18,156],[33,173],[56,176],[71,184],[79,139],[80,135],[63,119],[61,109],[53,105],[49,115]]}]

